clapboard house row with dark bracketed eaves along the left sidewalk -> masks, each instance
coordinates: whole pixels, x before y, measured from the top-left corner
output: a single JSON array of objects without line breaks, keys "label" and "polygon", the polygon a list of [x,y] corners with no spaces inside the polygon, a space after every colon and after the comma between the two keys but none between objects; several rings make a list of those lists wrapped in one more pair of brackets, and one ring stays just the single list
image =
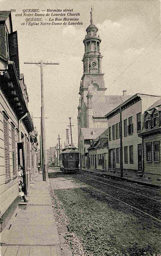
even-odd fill
[{"label": "clapboard house row with dark bracketed eaves along the left sidewalk", "polygon": [[18,166],[26,194],[36,171],[37,132],[28,111],[24,75],[20,74],[17,31],[10,11],[0,11],[0,212],[4,229],[20,202]]}]

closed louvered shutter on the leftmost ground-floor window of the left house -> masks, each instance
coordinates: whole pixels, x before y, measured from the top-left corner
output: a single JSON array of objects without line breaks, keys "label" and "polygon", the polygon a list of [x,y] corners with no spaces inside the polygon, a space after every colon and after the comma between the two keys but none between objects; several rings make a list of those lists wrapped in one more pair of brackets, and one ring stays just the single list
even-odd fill
[{"label": "closed louvered shutter on the leftmost ground-floor window of the left house", "polygon": [[5,114],[3,119],[3,129],[4,129],[5,178],[7,181],[8,179],[10,179],[10,150],[9,150],[8,118]]}]

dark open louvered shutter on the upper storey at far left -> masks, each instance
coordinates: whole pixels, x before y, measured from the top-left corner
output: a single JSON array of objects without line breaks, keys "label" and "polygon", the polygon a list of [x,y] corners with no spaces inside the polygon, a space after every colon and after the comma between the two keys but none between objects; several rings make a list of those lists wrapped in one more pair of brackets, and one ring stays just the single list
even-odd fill
[{"label": "dark open louvered shutter on the upper storey at far left", "polygon": [[19,67],[19,56],[18,56],[18,37],[17,31],[8,34],[10,60],[14,62],[18,79],[20,79],[20,67]]}]

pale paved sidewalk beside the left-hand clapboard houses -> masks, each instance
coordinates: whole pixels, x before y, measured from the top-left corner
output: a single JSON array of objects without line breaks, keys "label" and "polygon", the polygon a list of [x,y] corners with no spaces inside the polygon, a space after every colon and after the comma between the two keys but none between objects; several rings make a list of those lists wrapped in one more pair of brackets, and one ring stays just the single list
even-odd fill
[{"label": "pale paved sidewalk beside the left-hand clapboard houses", "polygon": [[2,231],[1,256],[62,256],[51,196],[42,173],[37,173],[26,210],[18,210],[9,229]]}]

